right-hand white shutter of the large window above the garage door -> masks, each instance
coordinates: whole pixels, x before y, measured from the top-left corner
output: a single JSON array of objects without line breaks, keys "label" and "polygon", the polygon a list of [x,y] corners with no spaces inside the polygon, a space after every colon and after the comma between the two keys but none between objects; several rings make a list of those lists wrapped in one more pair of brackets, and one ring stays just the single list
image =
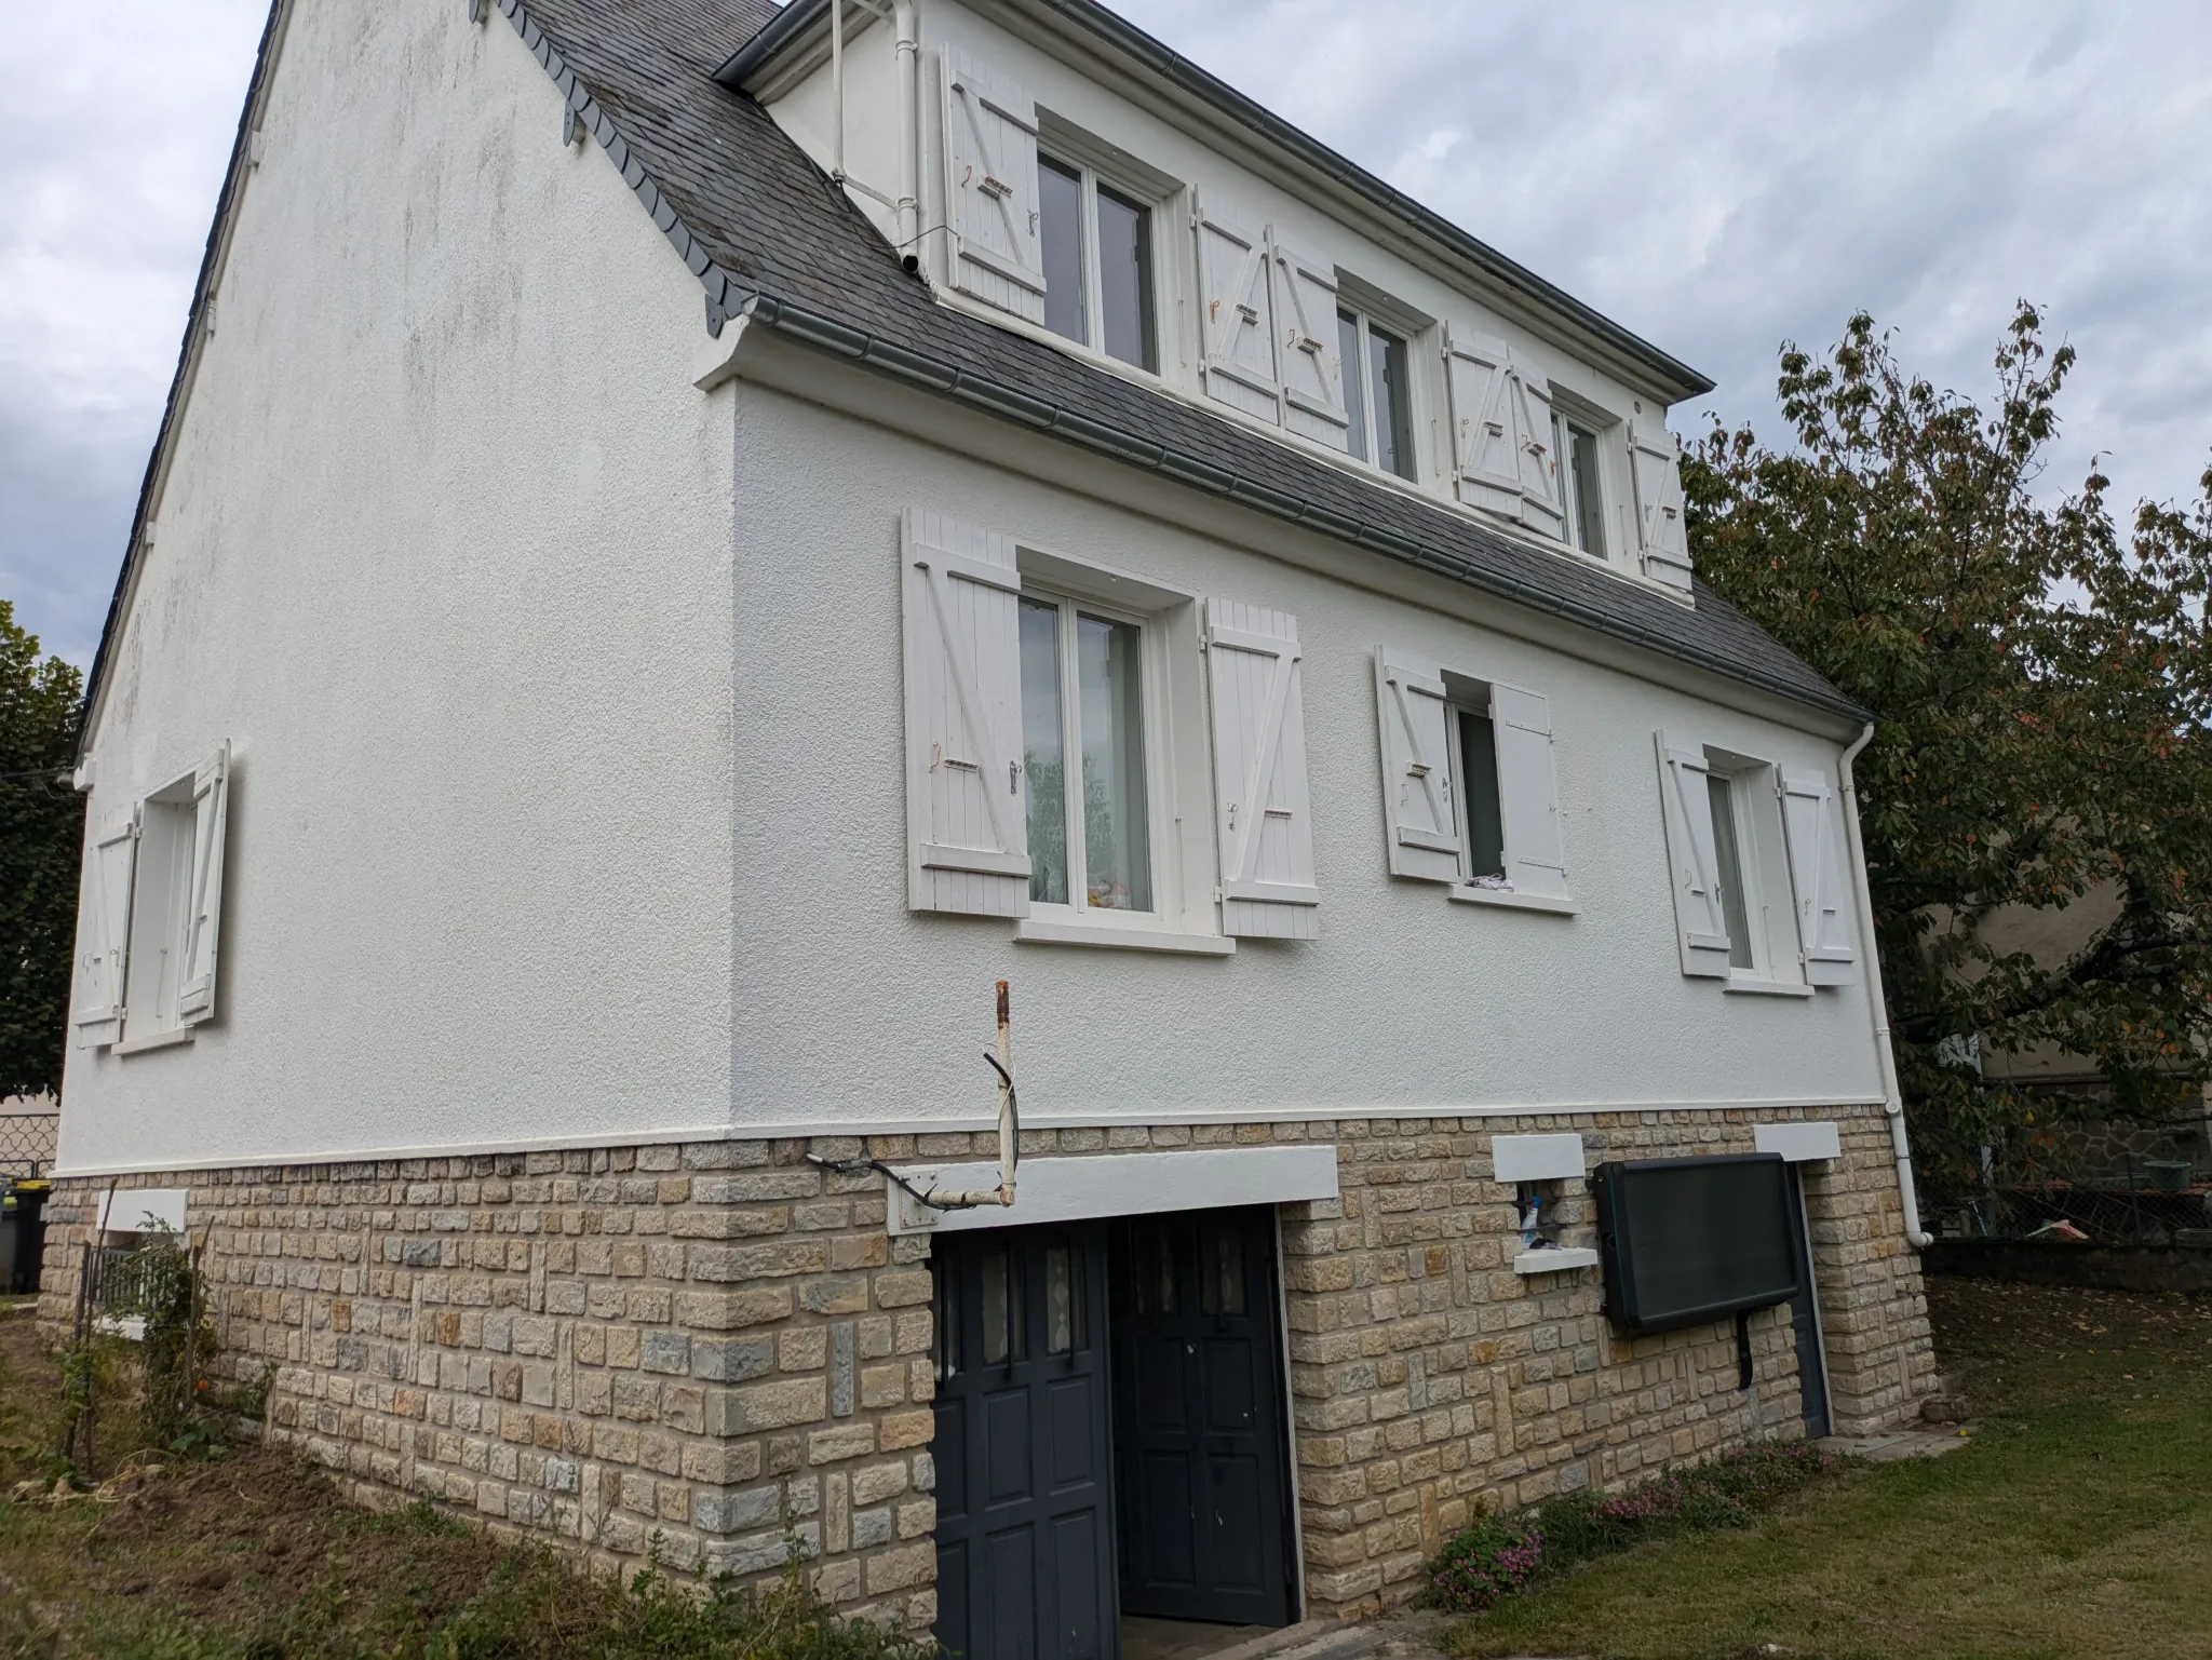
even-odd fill
[{"label": "right-hand white shutter of the large window above the garage door", "polygon": [[1221,932],[1318,938],[1298,620],[1206,602]]}]

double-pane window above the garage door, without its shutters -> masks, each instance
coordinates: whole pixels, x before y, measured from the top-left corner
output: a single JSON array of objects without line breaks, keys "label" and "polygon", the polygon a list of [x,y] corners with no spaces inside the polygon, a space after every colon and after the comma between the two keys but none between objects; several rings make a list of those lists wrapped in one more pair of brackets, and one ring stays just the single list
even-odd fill
[{"label": "double-pane window above the garage door, without its shutters", "polygon": [[1022,591],[1029,903],[1157,914],[1141,620]]}]

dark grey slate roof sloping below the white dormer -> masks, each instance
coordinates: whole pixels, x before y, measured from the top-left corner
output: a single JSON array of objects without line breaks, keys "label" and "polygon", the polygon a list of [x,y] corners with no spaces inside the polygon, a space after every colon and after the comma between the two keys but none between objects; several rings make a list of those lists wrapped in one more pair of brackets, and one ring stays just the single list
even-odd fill
[{"label": "dark grey slate roof sloping below the white dormer", "polygon": [[[1798,704],[1867,719],[1865,708],[1703,584],[1697,606],[1683,606],[938,305],[768,113],[714,82],[714,71],[779,15],[770,0],[489,2],[522,33],[699,277],[710,328],[743,312],[752,325],[1192,489]],[[248,108],[263,71],[265,62]],[[232,175],[239,166],[234,155]],[[232,195],[234,186],[226,186],[223,210]],[[166,434],[164,423],[164,443]],[[117,584],[86,697],[97,691],[122,593]]]}]

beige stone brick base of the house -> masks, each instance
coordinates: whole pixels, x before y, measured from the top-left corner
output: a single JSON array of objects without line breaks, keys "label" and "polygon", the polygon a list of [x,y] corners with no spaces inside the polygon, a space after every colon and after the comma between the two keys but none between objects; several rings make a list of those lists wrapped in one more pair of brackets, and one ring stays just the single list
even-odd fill
[{"label": "beige stone brick base of the house", "polygon": [[[1807,1166],[1840,1434],[1933,1388],[1920,1268],[1880,1111]],[[1778,1113],[1761,1113],[1772,1120]],[[1787,1313],[1619,1339],[1595,1268],[1524,1279],[1491,1138],[1579,1131],[1606,1158],[1750,1151],[1750,1113],[1425,1118],[1024,1131],[1024,1158],[1329,1142],[1340,1197],[1281,1206],[1307,1614],[1409,1596],[1478,1507],[1628,1481],[1798,1434]],[[765,1574],[796,1536],[845,1611],[936,1618],[929,1239],[883,1184],[805,1162],[852,1140],[230,1169],[188,1186],[223,1363],[272,1368],[270,1434],[363,1503],[425,1496],[573,1543],[653,1540]],[[878,1138],[883,1160],[991,1158],[993,1138]],[[42,1315],[69,1310],[106,1182],[49,1208]],[[1590,1242],[1582,1182],[1566,1244]]]}]

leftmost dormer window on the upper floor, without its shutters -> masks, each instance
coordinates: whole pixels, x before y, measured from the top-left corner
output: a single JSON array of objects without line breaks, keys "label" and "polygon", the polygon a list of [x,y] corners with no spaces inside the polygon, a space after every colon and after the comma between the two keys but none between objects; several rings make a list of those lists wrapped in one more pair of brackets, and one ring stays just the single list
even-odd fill
[{"label": "leftmost dormer window on the upper floor, without its shutters", "polygon": [[1152,210],[1097,173],[1037,157],[1044,325],[1139,370],[1159,370]]}]

